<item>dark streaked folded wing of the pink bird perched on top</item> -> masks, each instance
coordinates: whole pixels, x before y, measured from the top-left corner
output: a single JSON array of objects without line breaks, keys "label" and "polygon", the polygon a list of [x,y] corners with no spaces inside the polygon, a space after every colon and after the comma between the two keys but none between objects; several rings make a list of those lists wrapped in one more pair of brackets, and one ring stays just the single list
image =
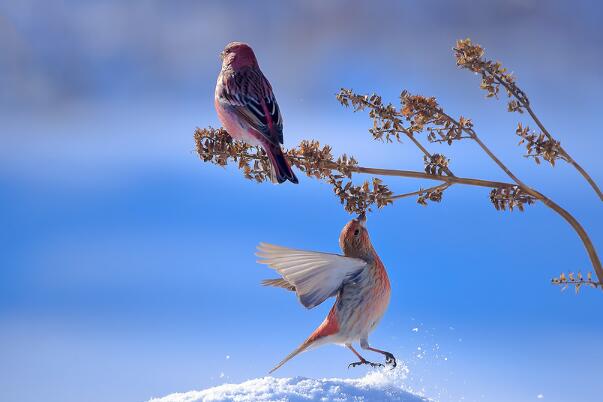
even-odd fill
[{"label": "dark streaked folded wing of the pink bird perched on top", "polygon": [[258,68],[223,75],[218,101],[273,144],[283,143],[283,118],[272,87]]}]

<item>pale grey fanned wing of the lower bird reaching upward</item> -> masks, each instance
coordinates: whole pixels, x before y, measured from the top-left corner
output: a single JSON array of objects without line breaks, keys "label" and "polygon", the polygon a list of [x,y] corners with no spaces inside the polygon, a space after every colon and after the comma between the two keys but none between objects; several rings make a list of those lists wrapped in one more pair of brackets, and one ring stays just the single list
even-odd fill
[{"label": "pale grey fanned wing of the lower bird reaching upward", "polygon": [[359,258],[266,243],[259,244],[256,255],[262,258],[259,263],[267,264],[295,287],[299,301],[307,308],[335,296],[346,281],[353,280],[367,266]]}]

